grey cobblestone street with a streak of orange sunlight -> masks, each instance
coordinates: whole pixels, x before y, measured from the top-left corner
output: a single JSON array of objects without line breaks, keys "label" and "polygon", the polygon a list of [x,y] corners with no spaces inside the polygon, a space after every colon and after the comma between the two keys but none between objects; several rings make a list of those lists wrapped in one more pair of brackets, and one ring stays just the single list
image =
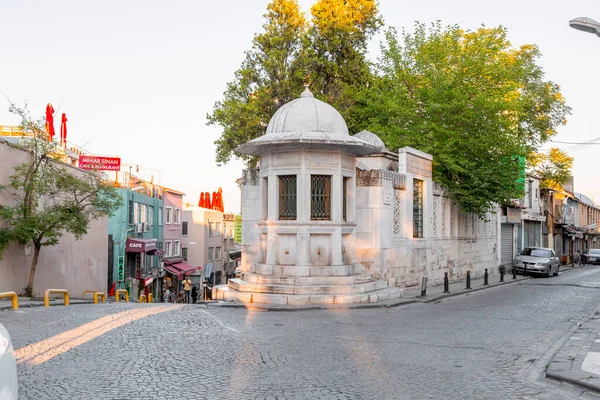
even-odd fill
[{"label": "grey cobblestone street with a streak of orange sunlight", "polygon": [[113,303],[0,322],[23,399],[595,398],[531,371],[596,310],[599,288],[587,267],[390,309]]}]

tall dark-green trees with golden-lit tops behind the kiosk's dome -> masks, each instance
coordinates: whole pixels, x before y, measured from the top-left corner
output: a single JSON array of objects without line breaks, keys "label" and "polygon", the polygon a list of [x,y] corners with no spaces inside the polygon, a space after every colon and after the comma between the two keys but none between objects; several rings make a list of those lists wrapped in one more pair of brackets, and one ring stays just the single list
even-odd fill
[{"label": "tall dark-green trees with golden-lit tops behind the kiosk's dome", "polygon": [[275,111],[299,97],[303,82],[344,115],[353,93],[371,79],[367,44],[382,24],[375,0],[319,0],[308,21],[297,0],[273,0],[264,17],[264,32],[207,116],[208,125],[223,129],[217,163],[237,157],[253,166],[254,158],[234,149],[263,135]]}]

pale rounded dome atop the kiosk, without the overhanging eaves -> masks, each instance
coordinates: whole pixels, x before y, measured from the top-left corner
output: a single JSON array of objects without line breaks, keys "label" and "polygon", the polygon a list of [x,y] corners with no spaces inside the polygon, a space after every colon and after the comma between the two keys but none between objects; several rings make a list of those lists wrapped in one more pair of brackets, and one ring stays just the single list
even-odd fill
[{"label": "pale rounded dome atop the kiosk, without the overhanging eaves", "polygon": [[284,104],[275,112],[266,135],[289,132],[328,132],[349,135],[346,121],[332,106],[315,99],[308,88],[300,98]]}]

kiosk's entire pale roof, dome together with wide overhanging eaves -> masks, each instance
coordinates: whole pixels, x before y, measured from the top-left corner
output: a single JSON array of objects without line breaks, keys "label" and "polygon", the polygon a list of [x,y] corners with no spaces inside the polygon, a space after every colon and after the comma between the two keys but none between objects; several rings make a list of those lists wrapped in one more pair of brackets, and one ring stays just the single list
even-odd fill
[{"label": "kiosk's entire pale roof, dome together with wide overhanging eaves", "polygon": [[329,104],[315,99],[308,87],[296,100],[284,104],[273,114],[263,136],[238,146],[242,154],[260,156],[274,148],[291,147],[341,148],[356,154],[367,155],[380,150],[350,136],[346,121]]}]

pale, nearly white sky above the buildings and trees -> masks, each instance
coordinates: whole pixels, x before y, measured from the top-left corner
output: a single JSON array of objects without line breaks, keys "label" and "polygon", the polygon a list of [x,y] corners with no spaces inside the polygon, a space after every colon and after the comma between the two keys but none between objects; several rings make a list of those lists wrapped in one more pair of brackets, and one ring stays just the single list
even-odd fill
[{"label": "pale, nearly white sky above the buildings and trees", "polygon": [[[300,0],[305,12],[314,1]],[[97,155],[160,171],[160,183],[186,193],[223,189],[226,212],[240,211],[242,163],[215,162],[221,131],[206,115],[261,31],[268,0],[3,0],[0,91],[42,117],[52,103],[68,118],[68,140]],[[598,0],[380,0],[386,26],[415,21],[474,30],[503,25],[513,45],[536,44],[546,79],[573,108],[553,138],[600,137],[600,37],[576,31],[575,17],[600,21]],[[382,35],[370,45],[378,56]],[[300,93],[302,88],[298,88]],[[0,97],[0,125],[18,125]],[[575,157],[575,191],[600,203],[600,145],[548,143]],[[1,162],[2,160],[0,160]]]}]

